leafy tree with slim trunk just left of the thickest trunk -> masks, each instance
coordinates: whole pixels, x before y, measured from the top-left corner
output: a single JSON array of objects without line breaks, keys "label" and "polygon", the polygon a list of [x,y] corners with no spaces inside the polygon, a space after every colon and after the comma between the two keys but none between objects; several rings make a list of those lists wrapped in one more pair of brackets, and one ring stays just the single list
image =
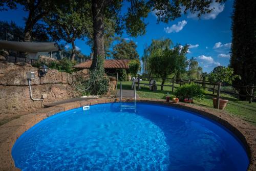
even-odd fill
[{"label": "leafy tree with slim trunk just left of the thickest trunk", "polygon": [[71,60],[75,60],[75,40],[90,34],[91,16],[87,12],[91,9],[86,1],[69,1],[50,12],[44,20],[48,24],[48,31],[54,40],[65,40],[72,45]]}]

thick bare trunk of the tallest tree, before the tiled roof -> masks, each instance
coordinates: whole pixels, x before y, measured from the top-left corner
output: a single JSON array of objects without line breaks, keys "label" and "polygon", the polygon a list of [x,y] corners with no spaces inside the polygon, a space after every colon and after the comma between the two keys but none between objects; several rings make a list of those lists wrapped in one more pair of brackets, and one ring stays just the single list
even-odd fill
[{"label": "thick bare trunk of the tallest tree, before the tiled roof", "polygon": [[[103,25],[103,11],[104,4],[102,0],[92,0],[93,13],[93,62],[91,69],[103,69],[103,62],[105,59],[104,50],[104,25]],[[102,62],[99,62],[102,61]]]}]

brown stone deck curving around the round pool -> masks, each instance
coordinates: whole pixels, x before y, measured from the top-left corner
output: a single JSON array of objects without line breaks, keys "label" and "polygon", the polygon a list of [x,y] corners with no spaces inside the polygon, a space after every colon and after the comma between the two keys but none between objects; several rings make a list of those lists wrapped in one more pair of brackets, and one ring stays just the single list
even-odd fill
[{"label": "brown stone deck curving around the round pool", "polygon": [[[128,102],[133,101],[133,99],[123,99],[122,101]],[[27,115],[23,115],[18,119],[14,119],[0,126],[0,170],[19,170],[15,167],[14,161],[11,156],[12,146],[20,135],[22,135],[25,131],[30,129],[30,127],[32,127],[36,123],[58,112],[79,108],[84,105],[93,105],[109,102],[119,102],[119,98],[104,97],[98,99],[72,101],[67,103],[56,103],[56,105],[50,106],[49,108],[44,108],[38,111],[31,112]],[[219,122],[232,133],[234,133],[243,142],[248,157],[250,159],[250,165],[248,170],[256,170],[256,126],[249,124],[248,122],[238,117],[230,116],[224,111],[204,108],[202,106],[197,106],[193,104],[172,103],[165,102],[164,100],[142,98],[137,99],[137,102],[150,102],[174,106],[177,108],[196,112],[200,115]]]}]

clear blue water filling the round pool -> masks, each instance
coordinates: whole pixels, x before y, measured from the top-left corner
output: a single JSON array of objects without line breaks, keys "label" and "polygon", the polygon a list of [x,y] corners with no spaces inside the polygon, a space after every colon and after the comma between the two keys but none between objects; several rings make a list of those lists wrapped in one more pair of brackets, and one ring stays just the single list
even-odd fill
[{"label": "clear blue water filling the round pool", "polygon": [[[133,103],[123,103],[132,105]],[[61,112],[25,132],[12,148],[22,170],[246,170],[240,143],[197,114],[137,103]]]}]

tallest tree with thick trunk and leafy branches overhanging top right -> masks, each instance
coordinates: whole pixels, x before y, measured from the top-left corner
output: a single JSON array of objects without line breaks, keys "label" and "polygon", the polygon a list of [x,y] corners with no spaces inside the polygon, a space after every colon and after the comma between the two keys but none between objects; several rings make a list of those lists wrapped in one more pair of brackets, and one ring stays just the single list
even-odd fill
[{"label": "tallest tree with thick trunk and leafy branches overhanging top right", "polygon": [[[218,3],[222,3],[225,0],[216,0]],[[116,17],[119,26],[123,26],[126,29],[127,34],[131,36],[138,36],[145,34],[146,23],[144,18],[151,11],[155,11],[158,17],[158,22],[168,23],[181,16],[181,13],[187,13],[189,10],[191,13],[197,13],[198,17],[202,14],[209,13],[214,9],[209,9],[212,1],[197,1],[197,0],[173,0],[173,1],[129,1],[131,6],[128,7],[127,13],[121,16],[120,9],[122,1],[115,0],[93,0],[92,1],[92,13],[93,13],[93,40],[94,40],[94,57],[91,69],[101,67],[97,65],[98,58],[104,60],[104,22],[103,18],[106,16],[118,16]],[[184,11],[181,10],[181,6],[185,7]],[[124,25],[122,25],[124,23]],[[117,25],[118,26],[118,25]],[[118,28],[118,27],[117,27]],[[122,27],[119,27],[122,28]]]}]

